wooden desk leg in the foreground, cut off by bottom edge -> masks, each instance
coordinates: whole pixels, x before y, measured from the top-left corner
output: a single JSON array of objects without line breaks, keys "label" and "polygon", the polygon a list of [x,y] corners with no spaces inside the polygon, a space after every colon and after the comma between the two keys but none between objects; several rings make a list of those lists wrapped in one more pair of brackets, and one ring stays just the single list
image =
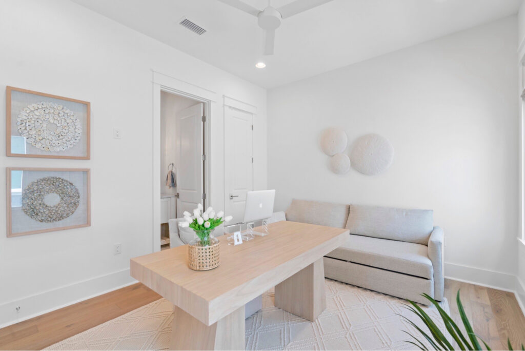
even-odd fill
[{"label": "wooden desk leg in the foreground, cut off by bottom edge", "polygon": [[171,350],[244,350],[244,306],[207,326],[182,309],[173,309]]}]

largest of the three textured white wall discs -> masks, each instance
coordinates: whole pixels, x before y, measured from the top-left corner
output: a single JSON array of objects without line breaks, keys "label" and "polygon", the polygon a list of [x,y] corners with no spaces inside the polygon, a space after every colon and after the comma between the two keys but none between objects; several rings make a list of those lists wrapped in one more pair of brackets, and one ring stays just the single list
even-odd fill
[{"label": "largest of the three textured white wall discs", "polygon": [[386,171],[394,160],[390,141],[377,134],[368,134],[355,141],[350,153],[352,167],[367,176]]}]

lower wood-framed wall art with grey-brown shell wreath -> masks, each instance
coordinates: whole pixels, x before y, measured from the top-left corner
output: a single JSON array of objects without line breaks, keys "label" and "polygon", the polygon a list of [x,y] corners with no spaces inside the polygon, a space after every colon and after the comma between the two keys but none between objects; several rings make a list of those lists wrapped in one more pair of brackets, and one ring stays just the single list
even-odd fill
[{"label": "lower wood-framed wall art with grey-brown shell wreath", "polygon": [[91,225],[90,172],[7,168],[7,237]]}]

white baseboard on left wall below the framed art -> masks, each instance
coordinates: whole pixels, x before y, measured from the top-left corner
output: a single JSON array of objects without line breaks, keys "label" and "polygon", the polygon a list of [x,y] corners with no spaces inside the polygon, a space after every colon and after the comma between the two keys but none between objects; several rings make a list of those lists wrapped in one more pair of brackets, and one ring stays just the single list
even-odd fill
[{"label": "white baseboard on left wall below the framed art", "polygon": [[[113,272],[0,305],[0,328],[137,283],[130,270]],[[20,307],[16,311],[16,307]]]}]

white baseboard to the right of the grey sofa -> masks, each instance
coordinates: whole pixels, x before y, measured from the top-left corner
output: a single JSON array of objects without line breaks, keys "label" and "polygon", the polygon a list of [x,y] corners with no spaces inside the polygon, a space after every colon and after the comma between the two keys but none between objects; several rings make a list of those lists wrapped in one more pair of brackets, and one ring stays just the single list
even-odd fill
[{"label": "white baseboard to the right of the grey sofa", "polygon": [[525,315],[525,284],[516,275],[445,263],[445,278],[514,293]]}]

